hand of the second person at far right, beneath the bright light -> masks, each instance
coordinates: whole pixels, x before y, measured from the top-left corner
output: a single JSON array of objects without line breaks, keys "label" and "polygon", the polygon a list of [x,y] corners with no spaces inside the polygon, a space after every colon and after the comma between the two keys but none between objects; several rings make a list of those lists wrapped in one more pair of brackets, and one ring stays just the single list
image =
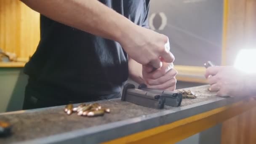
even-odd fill
[{"label": "hand of the second person at far right, beneath the bright light", "polygon": [[217,91],[217,96],[247,96],[250,93],[248,75],[235,67],[208,67],[205,77],[211,91]]}]

